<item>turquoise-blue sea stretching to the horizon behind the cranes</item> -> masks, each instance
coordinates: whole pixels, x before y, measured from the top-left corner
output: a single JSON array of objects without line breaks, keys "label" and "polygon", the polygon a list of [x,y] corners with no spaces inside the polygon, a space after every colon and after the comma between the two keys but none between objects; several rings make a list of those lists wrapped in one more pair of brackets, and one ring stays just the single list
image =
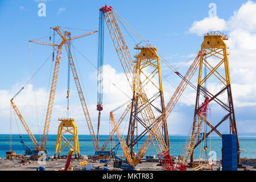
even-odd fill
[{"label": "turquoise-blue sea stretching to the horizon behind the cranes", "polygon": [[[26,143],[31,149],[34,149],[34,144],[32,143],[29,135],[22,134],[23,142]],[[36,140],[38,141],[40,145],[40,135],[34,135]],[[124,137],[126,137],[124,135]],[[53,156],[55,154],[55,146],[56,146],[56,138],[57,135],[48,135],[47,140],[47,155]],[[67,135],[67,138],[68,135]],[[108,138],[108,135],[99,135],[99,144],[100,148],[102,147],[102,144],[105,142],[106,138]],[[147,136],[144,136],[139,142],[138,146],[134,146],[134,152],[138,152],[141,148],[142,144],[144,143]],[[169,135],[170,138],[170,145],[171,150],[170,154],[174,156],[178,156],[181,154],[181,151],[183,149],[185,140],[187,139],[187,136],[184,135]],[[256,158],[256,136],[254,135],[242,135],[239,136],[240,139],[240,150],[243,150],[241,152],[241,158]],[[117,136],[115,136],[115,144],[119,143]],[[92,143],[92,139],[90,138],[90,135],[79,135],[79,145],[80,145],[80,154],[81,155],[94,155],[94,147]],[[207,147],[208,147],[208,158],[210,158],[209,152],[214,151],[216,152],[216,159],[221,159],[221,148],[222,148],[222,140],[219,136],[212,136],[207,138]],[[200,152],[200,148],[203,148],[203,145],[197,146],[195,150],[195,159],[201,158],[202,152]],[[15,151],[16,154],[24,154],[23,146],[20,143],[19,134],[13,134],[12,135],[12,145],[11,150]],[[67,155],[69,148],[66,147],[63,152],[61,152],[61,155]],[[108,150],[110,150],[110,146],[108,146]],[[0,134],[0,157],[5,158],[6,151],[10,151],[10,134]],[[115,150],[116,151],[116,150]],[[122,155],[122,148],[119,146],[117,148],[117,154]],[[156,155],[155,148],[153,145],[150,146],[148,149],[146,155]],[[210,153],[212,155],[212,152]],[[146,155],[144,158],[146,158]],[[156,156],[157,157],[157,156]]]}]

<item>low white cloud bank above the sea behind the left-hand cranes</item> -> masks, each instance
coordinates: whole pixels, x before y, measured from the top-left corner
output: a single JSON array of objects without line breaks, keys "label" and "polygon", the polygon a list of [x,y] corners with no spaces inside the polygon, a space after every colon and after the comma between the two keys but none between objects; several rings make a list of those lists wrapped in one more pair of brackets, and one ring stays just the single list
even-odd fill
[{"label": "low white cloud bank above the sea behind the left-hand cranes", "polygon": [[[122,105],[124,102],[128,101],[129,98],[132,97],[130,86],[127,83],[127,79],[125,73],[119,73],[110,65],[104,65],[104,110],[101,112],[101,127],[100,134],[109,134],[109,111],[115,109],[116,107]],[[93,78],[97,77],[96,72],[93,73]],[[95,80],[96,81],[96,80]],[[114,85],[116,86],[114,86]],[[15,84],[10,90],[0,90],[0,116],[2,121],[10,120],[10,100],[14,96],[17,90],[20,89],[20,84]],[[122,90],[122,91],[121,91]],[[76,92],[74,90],[72,93]],[[35,93],[35,96],[34,96]],[[57,133],[57,126],[59,122],[58,118],[62,118],[66,116],[67,106],[63,103],[63,98],[65,98],[66,91],[59,90],[58,94],[55,95],[55,102],[53,105],[52,118],[51,118],[51,126],[49,130],[49,134]],[[129,98],[124,94],[128,94]],[[33,89],[32,85],[27,85],[24,90],[17,96],[14,100],[16,106],[22,113],[24,119],[26,120],[28,126],[30,127],[32,133],[38,134],[39,128],[42,128],[41,122],[44,125],[44,120],[46,116],[46,105],[48,104],[48,97],[46,96],[47,90],[46,88],[37,88]],[[35,107],[35,97],[36,97],[36,107]],[[89,97],[89,96],[88,96]],[[73,100],[76,100],[75,102]],[[84,112],[82,111],[82,106],[79,101],[79,97],[72,97],[73,104],[69,105],[69,117],[75,118],[76,124],[79,127],[80,134],[89,134],[88,126],[85,120]],[[86,94],[85,94],[86,101]],[[97,119],[98,119],[98,111],[96,110],[96,103],[88,103],[88,110],[90,113],[90,118],[92,121],[92,125],[94,127],[94,132],[97,130]],[[119,119],[121,114],[123,113],[126,106],[123,106],[121,109],[115,111],[116,119]],[[36,109],[38,111],[39,123],[37,121]],[[18,117],[16,117],[18,119]],[[13,115],[13,122],[14,115]],[[23,129],[19,119],[19,128],[22,134],[26,134],[26,131]],[[0,123],[0,127],[5,129],[1,130],[2,133],[9,133],[9,123],[5,125],[3,122]],[[13,123],[13,131],[14,133],[18,133],[16,129],[16,124]],[[42,134],[42,131],[41,131]]]}]

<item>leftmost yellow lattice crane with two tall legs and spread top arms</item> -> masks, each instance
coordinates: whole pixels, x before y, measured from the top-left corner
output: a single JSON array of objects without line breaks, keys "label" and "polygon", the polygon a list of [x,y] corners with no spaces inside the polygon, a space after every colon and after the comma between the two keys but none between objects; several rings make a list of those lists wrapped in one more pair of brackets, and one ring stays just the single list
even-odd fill
[{"label": "leftmost yellow lattice crane with two tall legs and spread top arms", "polygon": [[[40,147],[39,147],[39,144],[36,141],[34,135],[32,134],[31,130],[29,129],[26,121],[24,120],[24,118],[20,114],[20,112],[18,110],[18,107],[13,102],[14,98],[24,89],[24,87],[22,89],[20,89],[19,92],[16,93],[15,96],[11,99],[11,105],[13,106],[13,108],[15,110],[15,113],[18,115],[18,117],[19,117],[20,121],[22,122],[23,126],[25,127],[28,135],[30,135],[30,138],[31,138],[32,142],[34,143],[35,147],[37,148],[37,150],[41,150],[41,151],[46,150],[46,144],[47,144],[47,138],[48,138],[48,132],[49,132],[49,125],[50,125],[50,122],[51,122],[52,108],[53,108],[53,102],[54,102],[54,98],[55,98],[57,78],[59,76],[59,68],[60,68],[61,55],[62,55],[62,51],[63,51],[63,45],[65,46],[65,49],[66,49],[67,53],[71,52],[69,44],[68,44],[69,40],[79,39],[79,38],[82,38],[84,36],[92,35],[92,34],[97,32],[97,31],[92,31],[92,32],[88,32],[88,33],[85,33],[85,34],[82,34],[82,35],[79,35],[79,36],[75,36],[73,38],[68,38],[69,35],[71,34],[70,32],[68,32],[68,31],[65,31],[64,33],[61,32],[59,26],[54,27],[52,29],[54,31],[56,31],[57,34],[59,34],[60,38],[62,39],[60,44],[39,42],[39,41],[36,41],[36,40],[30,40],[29,41],[29,42],[36,43],[36,44],[43,44],[43,45],[47,45],[47,46],[52,46],[55,49],[55,51],[57,51],[55,67],[54,67],[53,76],[52,76],[51,91],[50,91],[50,94],[49,94],[46,120],[44,122],[43,138],[42,138],[42,143],[41,143]],[[54,54],[53,54],[53,59],[54,59]],[[88,112],[88,109],[86,107],[86,103],[85,103],[85,99],[84,99],[84,94],[82,93],[79,77],[77,75],[76,67],[75,67],[75,64],[74,64],[71,53],[70,54],[68,53],[68,59],[69,59],[69,64],[71,65],[71,68],[72,68],[73,77],[74,77],[75,82],[76,82],[77,91],[79,92],[79,97],[80,97],[80,100],[81,100],[82,109],[83,109],[84,114],[85,114],[86,122],[88,123],[89,132],[90,132],[90,135],[91,135],[92,140],[93,140],[93,145],[94,145],[94,148],[96,150],[98,150],[98,143],[97,143],[94,131],[93,131],[92,122],[90,121],[89,112]]]}]

